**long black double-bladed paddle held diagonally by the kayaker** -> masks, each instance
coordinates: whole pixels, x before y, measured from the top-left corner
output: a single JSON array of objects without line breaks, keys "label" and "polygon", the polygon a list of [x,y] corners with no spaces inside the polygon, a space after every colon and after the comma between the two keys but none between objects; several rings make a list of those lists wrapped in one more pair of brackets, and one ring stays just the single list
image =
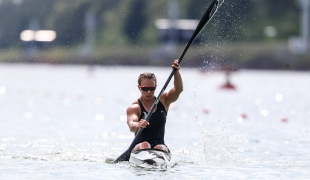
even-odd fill
[{"label": "long black double-bladed paddle held diagonally by the kayaker", "polygon": [[[202,28],[210,21],[210,19],[213,17],[213,15],[215,14],[215,12],[217,11],[219,7],[219,0],[213,0],[213,2],[210,4],[209,8],[207,9],[207,11],[205,12],[205,14],[202,16],[200,22],[198,23],[198,26],[196,27],[192,37],[190,38],[189,42],[186,44],[181,56],[179,57],[178,61],[179,63],[181,63],[187,49],[189,48],[189,46],[192,44],[192,42],[195,40],[195,38],[197,37],[197,35],[199,34],[199,32],[202,30]],[[162,88],[162,90],[160,91],[159,95],[157,96],[157,98],[155,99],[151,109],[149,112],[153,112],[154,108],[157,106],[160,97],[163,95],[163,93],[166,90],[166,87],[168,86],[174,72],[176,71],[176,69],[173,69],[172,72],[170,73],[166,83],[164,84],[164,87]],[[146,121],[149,121],[150,117],[151,117],[152,113],[148,113],[145,117]],[[134,140],[132,141],[132,143],[130,144],[129,148],[122,154],[120,155],[115,161],[114,163],[118,163],[120,161],[128,161],[129,157],[130,157],[130,153],[131,150],[135,147],[136,143],[138,142],[139,136],[141,135],[143,131],[143,128],[140,128],[134,138]]]}]

